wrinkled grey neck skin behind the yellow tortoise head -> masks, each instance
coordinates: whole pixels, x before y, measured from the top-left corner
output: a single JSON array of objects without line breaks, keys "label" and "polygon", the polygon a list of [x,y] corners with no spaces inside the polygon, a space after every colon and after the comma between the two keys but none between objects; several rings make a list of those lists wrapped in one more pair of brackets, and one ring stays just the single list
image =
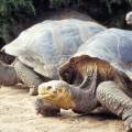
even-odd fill
[{"label": "wrinkled grey neck skin behind the yellow tortoise head", "polygon": [[73,109],[76,112],[87,113],[97,108],[98,100],[96,98],[97,68],[92,68],[91,75],[87,75],[80,86],[69,86],[72,98],[76,105]]}]

